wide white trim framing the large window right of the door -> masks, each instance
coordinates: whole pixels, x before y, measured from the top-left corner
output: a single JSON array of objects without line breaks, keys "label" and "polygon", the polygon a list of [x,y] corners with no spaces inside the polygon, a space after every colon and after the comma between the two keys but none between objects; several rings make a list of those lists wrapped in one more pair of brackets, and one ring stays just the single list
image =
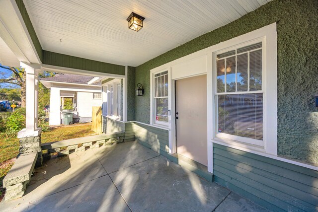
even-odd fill
[{"label": "wide white trim framing the large window right of the door", "polygon": [[[221,51],[240,48],[262,41],[262,92],[263,92],[263,142],[219,134],[217,130],[216,107],[213,110],[212,142],[231,144],[234,148],[257,150],[277,156],[277,41],[276,24],[271,24],[258,30],[241,35],[237,38],[213,46],[212,50],[212,78],[213,99],[217,93],[216,83],[216,54]],[[270,85],[270,86],[268,86]],[[238,92],[237,92],[238,93]],[[241,92],[240,92],[241,93]],[[257,92],[253,92],[257,93]],[[216,100],[213,100],[216,104]],[[239,140],[239,141],[238,141]],[[245,142],[241,142],[245,141]],[[256,144],[256,145],[255,145]]]}]

